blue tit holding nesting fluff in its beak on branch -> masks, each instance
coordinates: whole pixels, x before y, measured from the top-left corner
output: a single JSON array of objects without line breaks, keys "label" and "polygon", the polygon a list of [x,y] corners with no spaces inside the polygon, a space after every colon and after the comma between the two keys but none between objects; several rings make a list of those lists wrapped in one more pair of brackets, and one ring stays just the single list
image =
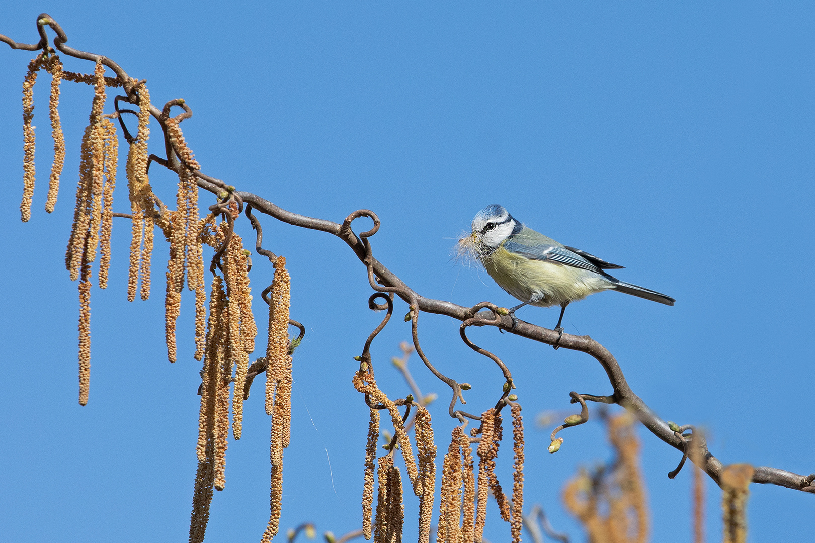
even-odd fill
[{"label": "blue tit holding nesting fluff in its beak on branch", "polygon": [[585,251],[557,243],[554,239],[523,226],[502,206],[488,205],[473,219],[473,233],[461,240],[487,269],[498,286],[523,303],[509,309],[513,328],[515,311],[526,304],[538,307],[561,306],[555,331],[563,335],[561,323],[566,306],[600,291],[620,291],[660,304],[676,300],[649,288],[620,281],[606,269],[610,264]]}]

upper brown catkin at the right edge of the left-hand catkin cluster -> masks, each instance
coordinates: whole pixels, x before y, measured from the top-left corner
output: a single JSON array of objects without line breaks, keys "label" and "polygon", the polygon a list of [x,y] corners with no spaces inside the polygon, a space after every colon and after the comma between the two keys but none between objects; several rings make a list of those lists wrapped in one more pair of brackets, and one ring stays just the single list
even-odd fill
[{"label": "upper brown catkin at the right edge of the left-hand catkin cluster", "polygon": [[[266,414],[273,413],[275,386],[284,380],[286,355],[289,349],[289,303],[291,278],[286,271],[286,259],[278,256],[275,276],[271,281],[269,304],[269,340],[266,348]],[[282,443],[282,441],[281,441]]]}]

